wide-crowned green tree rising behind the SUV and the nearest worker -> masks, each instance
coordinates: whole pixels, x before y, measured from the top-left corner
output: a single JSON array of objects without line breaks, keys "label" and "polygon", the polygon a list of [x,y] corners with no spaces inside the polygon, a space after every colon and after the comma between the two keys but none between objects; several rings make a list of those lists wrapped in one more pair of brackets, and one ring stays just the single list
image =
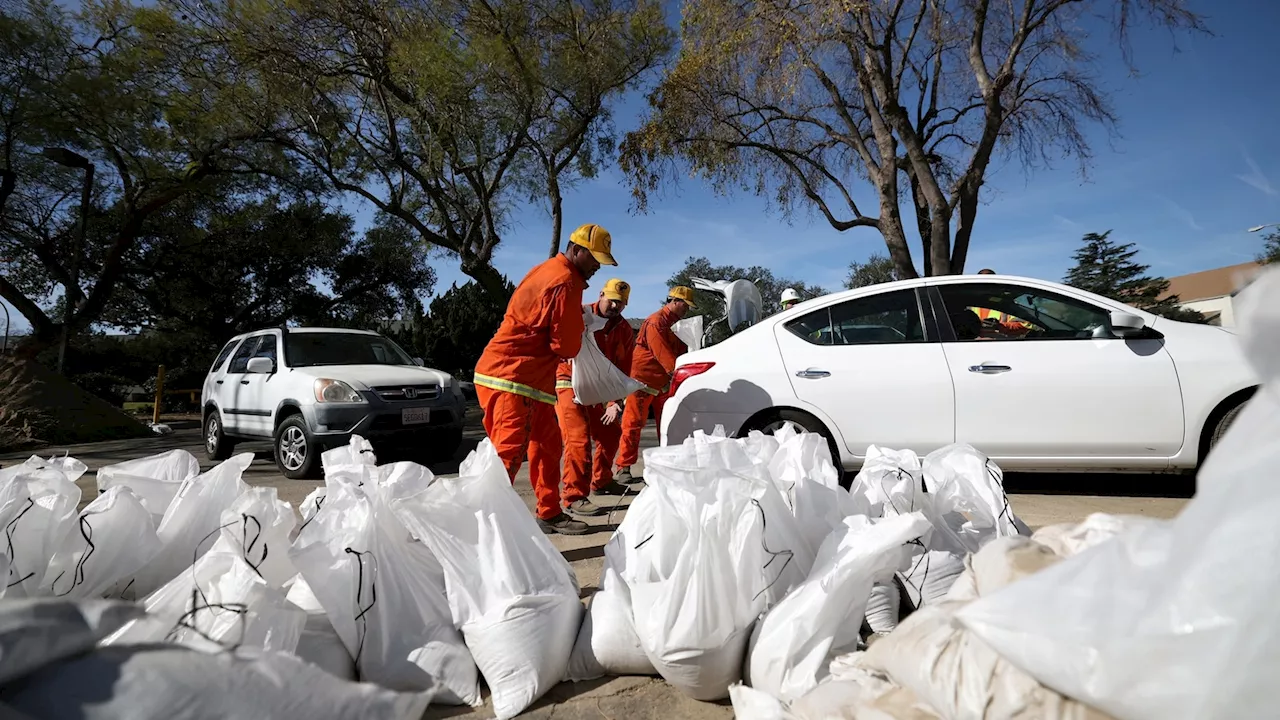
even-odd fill
[{"label": "wide-crowned green tree rising behind the SUV and the nearest worker", "polygon": [[[169,0],[166,53],[253,108],[296,181],[372,204],[500,296],[522,193],[548,201],[612,154],[609,105],[668,54],[658,0]],[[204,68],[204,70],[201,70]]]}]

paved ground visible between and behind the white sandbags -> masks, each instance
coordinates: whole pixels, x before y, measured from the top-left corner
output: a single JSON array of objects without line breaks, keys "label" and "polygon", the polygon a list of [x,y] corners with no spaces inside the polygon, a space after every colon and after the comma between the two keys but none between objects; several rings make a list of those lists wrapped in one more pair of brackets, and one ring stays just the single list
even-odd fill
[{"label": "paved ground visible between and behind the white sandbags", "polygon": [[[484,434],[479,427],[466,433],[466,442],[457,457],[431,468],[436,474],[457,471],[458,461],[470,452]],[[644,447],[657,445],[657,433],[650,425],[644,434]],[[200,430],[180,428],[170,436],[142,441],[119,441],[64,448],[49,448],[41,455],[69,452],[90,466],[90,473],[79,480],[83,491],[82,505],[96,495],[95,471],[113,462],[142,457],[173,448],[184,448],[201,460],[202,468],[212,466],[204,457]],[[288,480],[276,470],[270,457],[269,445],[244,445],[237,450],[257,454],[257,459],[244,474],[251,486],[269,486],[279,491],[282,500],[297,506],[307,493],[321,483],[317,480]],[[0,455],[0,465],[8,466],[26,457],[26,454]],[[1146,475],[1010,475],[1006,478],[1014,511],[1032,528],[1053,523],[1079,521],[1091,512],[1138,514],[1172,518],[1181,510],[1193,489],[1192,480],[1178,477]],[[521,470],[516,489],[532,511],[534,495],[529,486],[527,470]],[[580,537],[552,538],[564,557],[577,571],[582,596],[595,592],[600,579],[604,543],[630,500],[622,500],[618,512],[591,519],[595,532]],[[607,717],[732,717],[724,703],[703,703],[685,697],[660,680],[650,678],[609,678],[595,683],[563,683],[540,701],[525,717],[607,719]],[[485,708],[435,707],[426,717],[492,717]]]}]

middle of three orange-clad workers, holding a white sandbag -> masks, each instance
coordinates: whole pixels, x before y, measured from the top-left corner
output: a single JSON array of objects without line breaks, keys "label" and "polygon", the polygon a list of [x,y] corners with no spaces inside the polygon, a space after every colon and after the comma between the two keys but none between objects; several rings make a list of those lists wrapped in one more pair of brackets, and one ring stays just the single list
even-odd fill
[{"label": "middle of three orange-clad workers, holding a white sandbag", "polygon": [[[631,299],[631,286],[614,278],[604,283],[600,299],[582,307],[582,314],[593,313],[605,320],[595,331],[595,343],[600,352],[623,373],[631,372],[631,350],[636,333],[622,311]],[[620,398],[621,400],[621,398]],[[607,509],[591,502],[595,496],[626,495],[623,486],[613,482],[613,457],[622,439],[622,402],[582,406],[573,400],[573,365],[561,363],[556,375],[556,415],[561,421],[564,439],[564,507],[579,516],[604,515]],[[595,457],[591,456],[595,441]]]}]

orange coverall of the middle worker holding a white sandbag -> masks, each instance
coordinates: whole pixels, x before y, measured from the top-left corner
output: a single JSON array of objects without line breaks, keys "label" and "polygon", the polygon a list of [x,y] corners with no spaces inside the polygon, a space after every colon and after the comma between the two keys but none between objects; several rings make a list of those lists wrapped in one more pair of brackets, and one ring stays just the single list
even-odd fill
[{"label": "orange coverall of the middle worker holding a white sandbag", "polygon": [[[586,305],[582,311],[596,311],[596,305]],[[631,350],[636,333],[622,316],[611,318],[603,329],[595,331],[595,343],[600,351],[620,370],[631,370]],[[622,438],[621,419],[612,425],[604,424],[605,405],[582,406],[573,402],[573,366],[561,363],[556,374],[556,415],[559,416],[561,434],[564,439],[564,469],[561,478],[564,483],[564,503],[572,503],[586,497],[594,488],[613,482],[613,457],[618,454],[618,441]],[[591,441],[595,441],[595,457],[591,457]]]}]

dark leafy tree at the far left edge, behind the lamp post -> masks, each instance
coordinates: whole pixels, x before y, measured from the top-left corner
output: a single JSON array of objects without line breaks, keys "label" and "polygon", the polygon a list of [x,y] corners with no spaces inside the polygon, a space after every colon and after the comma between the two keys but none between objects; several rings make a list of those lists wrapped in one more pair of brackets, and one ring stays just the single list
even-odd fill
[{"label": "dark leafy tree at the far left edge, behind the lamp post", "polygon": [[[61,333],[55,290],[72,331],[99,322],[147,219],[250,158],[232,151],[256,136],[252,118],[216,113],[207,86],[155,51],[156,18],[114,3],[0,5],[0,297],[31,324],[28,355]],[[55,161],[67,158],[96,169],[87,206],[83,170]],[[92,229],[77,251],[82,214]]]}]

